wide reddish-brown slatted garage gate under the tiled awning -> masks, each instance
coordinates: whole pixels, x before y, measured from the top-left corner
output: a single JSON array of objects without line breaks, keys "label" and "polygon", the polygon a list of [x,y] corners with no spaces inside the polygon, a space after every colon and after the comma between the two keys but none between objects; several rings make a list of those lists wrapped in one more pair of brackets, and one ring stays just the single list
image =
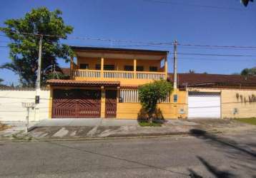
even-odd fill
[{"label": "wide reddish-brown slatted garage gate under the tiled awning", "polygon": [[52,117],[100,117],[100,101],[100,90],[54,90]]}]

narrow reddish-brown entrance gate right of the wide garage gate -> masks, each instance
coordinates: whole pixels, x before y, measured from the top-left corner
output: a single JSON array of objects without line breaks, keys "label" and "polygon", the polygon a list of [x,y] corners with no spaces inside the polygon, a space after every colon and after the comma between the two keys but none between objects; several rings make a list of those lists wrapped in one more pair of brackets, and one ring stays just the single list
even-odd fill
[{"label": "narrow reddish-brown entrance gate right of the wide garage gate", "polygon": [[117,90],[106,90],[105,117],[117,117]]}]

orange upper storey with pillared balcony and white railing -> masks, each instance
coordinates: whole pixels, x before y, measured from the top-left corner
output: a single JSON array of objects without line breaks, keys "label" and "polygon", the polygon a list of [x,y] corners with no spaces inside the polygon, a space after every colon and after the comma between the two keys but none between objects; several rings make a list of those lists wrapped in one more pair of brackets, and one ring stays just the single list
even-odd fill
[{"label": "orange upper storey with pillared balcony and white railing", "polygon": [[118,48],[73,47],[73,80],[118,81],[121,85],[142,85],[167,79],[167,51]]}]

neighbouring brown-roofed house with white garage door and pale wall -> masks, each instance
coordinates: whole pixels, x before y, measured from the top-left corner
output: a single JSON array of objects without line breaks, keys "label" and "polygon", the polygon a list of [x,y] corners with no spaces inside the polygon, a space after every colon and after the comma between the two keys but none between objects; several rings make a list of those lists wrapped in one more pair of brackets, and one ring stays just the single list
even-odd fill
[{"label": "neighbouring brown-roofed house with white garage door and pale wall", "polygon": [[177,80],[187,90],[188,118],[256,116],[255,76],[179,73]]}]

